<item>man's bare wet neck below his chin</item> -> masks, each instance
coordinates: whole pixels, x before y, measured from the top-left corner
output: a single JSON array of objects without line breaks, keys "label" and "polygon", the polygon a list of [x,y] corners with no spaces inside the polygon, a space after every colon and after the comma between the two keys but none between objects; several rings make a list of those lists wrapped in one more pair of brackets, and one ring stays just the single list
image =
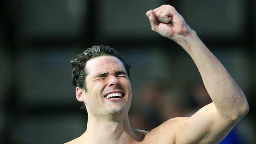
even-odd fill
[{"label": "man's bare wet neck below his chin", "polygon": [[133,129],[130,127],[128,114],[119,117],[94,117],[88,114],[84,139],[95,143],[130,143],[133,139]]}]

